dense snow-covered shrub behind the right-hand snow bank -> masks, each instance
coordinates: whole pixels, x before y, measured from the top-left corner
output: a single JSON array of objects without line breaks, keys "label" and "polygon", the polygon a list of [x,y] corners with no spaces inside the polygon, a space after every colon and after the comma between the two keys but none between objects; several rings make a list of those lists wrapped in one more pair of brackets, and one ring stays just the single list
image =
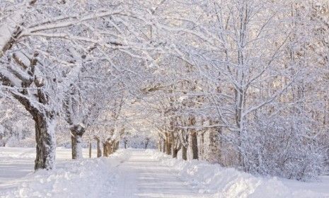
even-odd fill
[{"label": "dense snow-covered shrub behind the right-hand snow bank", "polygon": [[277,175],[309,180],[324,170],[323,147],[310,123],[296,117],[254,122],[252,131],[243,134],[245,170],[261,175]]}]

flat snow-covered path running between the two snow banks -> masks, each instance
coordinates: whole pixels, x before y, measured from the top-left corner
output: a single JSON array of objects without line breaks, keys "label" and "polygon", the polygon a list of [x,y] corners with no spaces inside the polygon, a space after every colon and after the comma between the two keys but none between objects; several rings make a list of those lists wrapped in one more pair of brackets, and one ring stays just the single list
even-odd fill
[{"label": "flat snow-covered path running between the two snow banks", "polygon": [[116,198],[151,197],[213,197],[201,194],[178,177],[178,170],[163,165],[144,151],[131,151],[131,156],[117,165],[119,178]]}]

